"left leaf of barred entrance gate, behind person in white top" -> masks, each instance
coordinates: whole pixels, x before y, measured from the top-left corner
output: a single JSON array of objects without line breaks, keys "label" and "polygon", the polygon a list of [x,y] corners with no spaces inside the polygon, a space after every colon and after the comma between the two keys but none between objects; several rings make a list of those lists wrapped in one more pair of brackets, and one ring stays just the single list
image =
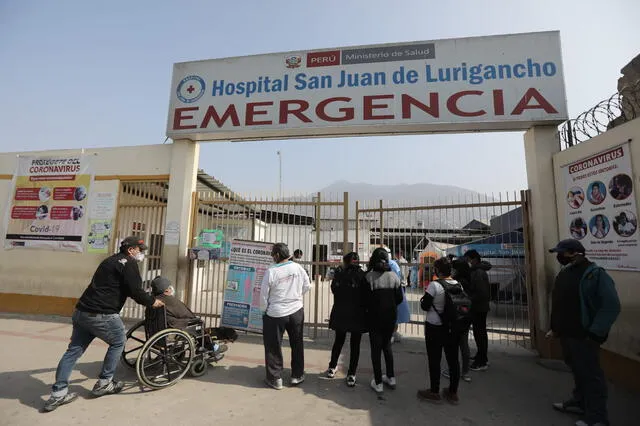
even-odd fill
[{"label": "left leaf of barred entrance gate, behind person in white top", "polygon": [[349,225],[355,221],[348,219],[348,194],[256,199],[212,188],[195,193],[194,206],[192,238],[203,229],[216,229],[222,231],[225,241],[220,259],[191,261],[186,302],[196,315],[208,325],[219,323],[233,239],[284,242],[292,252],[302,250],[300,264],[313,282],[304,300],[306,332],[313,337],[327,333],[331,271],[355,241]]}]

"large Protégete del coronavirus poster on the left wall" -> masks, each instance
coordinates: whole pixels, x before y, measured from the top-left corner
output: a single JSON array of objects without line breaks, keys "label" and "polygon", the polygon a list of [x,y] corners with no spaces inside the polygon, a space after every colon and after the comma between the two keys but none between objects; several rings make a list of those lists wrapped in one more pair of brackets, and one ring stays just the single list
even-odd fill
[{"label": "large Prot\u00e9gete del coronavirus poster on the left wall", "polygon": [[5,219],[5,248],[82,252],[92,156],[20,156]]}]

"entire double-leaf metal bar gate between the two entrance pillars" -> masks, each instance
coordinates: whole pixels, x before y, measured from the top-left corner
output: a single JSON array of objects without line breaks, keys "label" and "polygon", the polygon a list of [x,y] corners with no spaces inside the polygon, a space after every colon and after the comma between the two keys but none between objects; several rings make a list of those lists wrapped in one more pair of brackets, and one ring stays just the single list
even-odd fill
[{"label": "entire double-leaf metal bar gate between the two entrance pillars", "polygon": [[399,331],[417,337],[422,336],[424,317],[419,299],[433,261],[476,248],[493,263],[490,339],[530,344],[526,191],[433,205],[356,201],[350,209],[347,193],[282,200],[241,197],[220,189],[211,185],[193,195],[192,239],[204,229],[217,229],[225,241],[220,259],[190,264],[186,302],[208,325],[219,325],[228,267],[224,253],[233,239],[284,242],[291,251],[303,251],[300,263],[314,283],[304,300],[311,337],[328,334],[332,271],[343,254],[357,251],[366,263],[376,247],[391,249],[409,284],[411,322]]}]

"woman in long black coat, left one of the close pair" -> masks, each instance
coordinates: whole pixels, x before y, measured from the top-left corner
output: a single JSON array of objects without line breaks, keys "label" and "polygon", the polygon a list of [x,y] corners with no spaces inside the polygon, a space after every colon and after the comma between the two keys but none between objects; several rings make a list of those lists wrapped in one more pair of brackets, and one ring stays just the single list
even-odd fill
[{"label": "woman in long black coat, left one of the close pair", "polygon": [[342,266],[336,269],[331,281],[333,293],[333,307],[329,317],[329,328],[335,330],[336,337],[331,350],[331,360],[325,376],[333,379],[336,376],[338,358],[342,346],[351,333],[349,353],[349,370],[347,371],[347,386],[356,385],[356,369],[360,359],[360,340],[366,332],[364,298],[366,296],[366,281],[364,271],[358,264],[357,253],[351,252],[342,258]]}]

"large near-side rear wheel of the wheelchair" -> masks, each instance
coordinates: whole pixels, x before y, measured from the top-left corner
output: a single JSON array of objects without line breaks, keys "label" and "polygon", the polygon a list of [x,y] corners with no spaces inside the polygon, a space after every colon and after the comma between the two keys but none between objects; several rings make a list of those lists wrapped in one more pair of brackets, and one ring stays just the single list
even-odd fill
[{"label": "large near-side rear wheel of the wheelchair", "polygon": [[191,336],[168,328],[153,336],[140,349],[136,374],[144,386],[161,389],[175,384],[189,371],[195,356]]}]

